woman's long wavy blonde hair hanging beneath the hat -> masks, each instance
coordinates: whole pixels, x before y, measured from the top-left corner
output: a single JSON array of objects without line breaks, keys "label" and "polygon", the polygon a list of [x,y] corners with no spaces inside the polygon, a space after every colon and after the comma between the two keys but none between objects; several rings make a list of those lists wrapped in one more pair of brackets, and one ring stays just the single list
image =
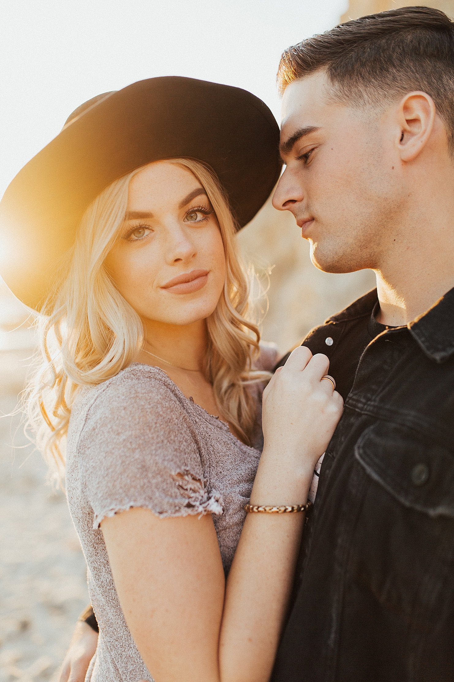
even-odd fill
[{"label": "woman's long wavy blonde hair hanging beneath the hat", "polygon": [[[270,374],[253,370],[260,334],[250,318],[250,278],[238,252],[236,224],[210,168],[189,158],[166,162],[195,175],[216,213],[227,273],[223,295],[206,321],[204,374],[222,417],[250,444],[256,408],[248,385],[266,381]],[[41,361],[25,394],[27,423],[56,479],[64,472],[65,436],[78,392],[118,374],[144,344],[140,317],[104,265],[125,220],[129,181],[140,170],[112,182],[88,206],[37,321]]]}]

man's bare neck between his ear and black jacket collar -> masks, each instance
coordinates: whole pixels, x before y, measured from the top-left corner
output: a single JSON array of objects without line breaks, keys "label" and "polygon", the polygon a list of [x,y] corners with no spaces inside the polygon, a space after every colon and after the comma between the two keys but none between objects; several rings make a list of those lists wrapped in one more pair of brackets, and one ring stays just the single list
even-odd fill
[{"label": "man's bare neck between his ear and black jacket collar", "polygon": [[438,123],[438,137],[400,166],[401,202],[370,265],[385,325],[410,323],[454,287],[454,165]]}]

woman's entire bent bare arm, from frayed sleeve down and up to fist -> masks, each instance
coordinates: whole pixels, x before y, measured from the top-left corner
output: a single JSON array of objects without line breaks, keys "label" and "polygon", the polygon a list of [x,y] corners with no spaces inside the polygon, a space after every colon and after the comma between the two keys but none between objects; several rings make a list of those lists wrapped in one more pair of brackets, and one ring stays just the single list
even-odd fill
[{"label": "woman's entire bent bare arm, from frayed sleeve down and up to fist", "polygon": [[[342,413],[321,381],[328,360],[296,349],[265,389],[265,448],[251,503],[306,502],[314,464]],[[225,587],[211,516],[131,509],[101,523],[120,604],[157,682],[266,682],[303,514],[248,514]]]}]

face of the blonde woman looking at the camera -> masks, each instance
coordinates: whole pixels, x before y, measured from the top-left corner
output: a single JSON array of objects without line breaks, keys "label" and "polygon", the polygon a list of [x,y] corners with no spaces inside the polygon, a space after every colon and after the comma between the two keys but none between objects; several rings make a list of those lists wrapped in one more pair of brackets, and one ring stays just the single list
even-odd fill
[{"label": "face of the blonde woman looking at the camera", "polygon": [[190,170],[159,161],[133,177],[106,267],[144,321],[189,325],[214,311],[225,282],[223,240]]}]

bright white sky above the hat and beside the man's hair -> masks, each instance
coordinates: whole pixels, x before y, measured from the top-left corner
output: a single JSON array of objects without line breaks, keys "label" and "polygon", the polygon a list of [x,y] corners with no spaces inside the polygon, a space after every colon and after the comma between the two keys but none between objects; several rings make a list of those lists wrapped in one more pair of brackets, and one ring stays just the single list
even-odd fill
[{"label": "bright white sky above the hat and beside the man's hair", "polygon": [[279,120],[280,53],[348,0],[0,0],[0,196],[79,104],[153,76],[236,85]]}]

